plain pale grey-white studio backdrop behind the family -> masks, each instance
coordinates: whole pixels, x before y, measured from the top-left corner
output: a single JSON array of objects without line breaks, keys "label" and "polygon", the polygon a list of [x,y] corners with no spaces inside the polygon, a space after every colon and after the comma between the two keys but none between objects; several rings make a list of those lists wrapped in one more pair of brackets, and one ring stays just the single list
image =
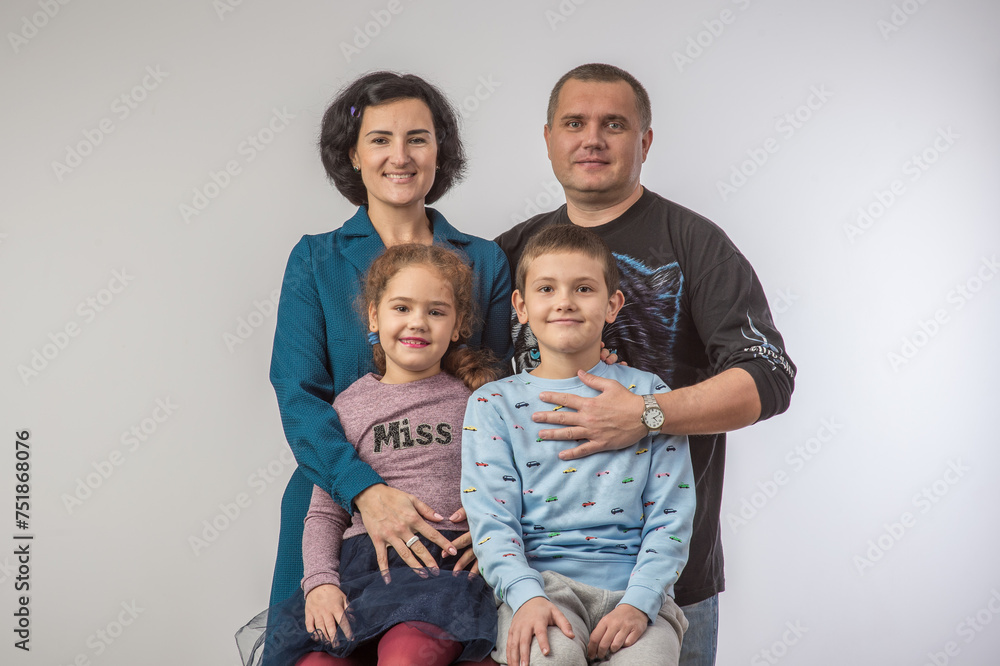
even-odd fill
[{"label": "plain pale grey-white studio backdrop behind the family", "polygon": [[548,92],[606,61],[652,96],[643,183],[730,234],[800,370],[788,413],[730,438],[719,664],[1000,663],[998,19],[988,0],[4,2],[0,662],[238,663],[292,470],[271,301],[298,238],[353,212],[315,150],[337,89],[439,84],[471,160],[437,207],[493,237],[561,203]]}]

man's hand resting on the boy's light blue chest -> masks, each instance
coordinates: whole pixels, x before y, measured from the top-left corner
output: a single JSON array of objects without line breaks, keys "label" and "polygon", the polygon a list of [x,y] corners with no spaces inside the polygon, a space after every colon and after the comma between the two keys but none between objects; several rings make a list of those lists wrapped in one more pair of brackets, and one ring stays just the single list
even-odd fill
[{"label": "man's hand resting on the boy's light blue chest", "polygon": [[613,379],[597,377],[581,370],[583,383],[600,391],[593,398],[582,398],[571,393],[543,391],[539,396],[544,402],[576,410],[535,412],[537,423],[556,423],[569,427],[542,430],[538,436],[547,440],[584,440],[574,449],[559,453],[563,460],[576,460],[598,451],[617,451],[635,444],[646,436],[648,430],[640,422],[645,405],[642,396],[635,395]]}]

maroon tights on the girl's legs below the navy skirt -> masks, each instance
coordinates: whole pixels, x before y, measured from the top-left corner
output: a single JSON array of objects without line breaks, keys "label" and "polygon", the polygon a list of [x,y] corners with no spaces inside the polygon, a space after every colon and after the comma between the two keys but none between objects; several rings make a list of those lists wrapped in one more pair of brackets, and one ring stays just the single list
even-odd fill
[{"label": "maroon tights on the girl's legs below the navy skirt", "polygon": [[[444,632],[426,622],[404,622],[382,634],[376,643],[362,645],[349,657],[334,657],[326,652],[310,652],[296,666],[368,666],[370,664],[409,664],[411,666],[447,666],[462,653],[462,644],[443,638]],[[468,666],[489,666],[495,661],[459,662]]]}]

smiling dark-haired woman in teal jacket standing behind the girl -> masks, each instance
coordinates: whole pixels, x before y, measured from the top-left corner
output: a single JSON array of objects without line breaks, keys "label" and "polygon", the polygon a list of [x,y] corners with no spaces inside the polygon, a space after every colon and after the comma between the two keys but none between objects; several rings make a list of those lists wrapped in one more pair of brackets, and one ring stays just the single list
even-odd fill
[{"label": "smiling dark-haired woman in teal jacket standing behind the girl", "polygon": [[[455,113],[444,96],[413,75],[367,74],[327,109],[319,145],[327,175],[359,208],[341,228],[303,237],[282,282],[271,383],[299,467],[282,499],[272,605],[301,582],[302,521],[314,484],[348,512],[357,507],[382,568],[388,547],[410,566],[436,566],[427,548],[413,542],[417,534],[453,554],[471,545],[467,535],[448,542],[423,519],[442,519],[433,507],[385,485],[358,458],[330,407],[340,391],[374,371],[367,331],[355,310],[360,278],[374,258],[399,243],[458,251],[477,275],[483,319],[469,344],[489,347],[501,359],[510,355],[510,273],[503,252],[425,207],[465,167]],[[471,557],[468,548],[463,561]]]}]

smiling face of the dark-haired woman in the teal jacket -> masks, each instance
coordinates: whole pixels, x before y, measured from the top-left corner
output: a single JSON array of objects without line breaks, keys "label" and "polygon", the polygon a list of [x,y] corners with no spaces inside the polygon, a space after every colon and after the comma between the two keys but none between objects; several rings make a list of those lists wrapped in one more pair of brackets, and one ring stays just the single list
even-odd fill
[{"label": "smiling face of the dark-haired woman in the teal jacket", "polygon": [[437,168],[431,110],[419,99],[368,107],[350,158],[361,169],[370,213],[377,217],[386,208],[423,208]]}]

